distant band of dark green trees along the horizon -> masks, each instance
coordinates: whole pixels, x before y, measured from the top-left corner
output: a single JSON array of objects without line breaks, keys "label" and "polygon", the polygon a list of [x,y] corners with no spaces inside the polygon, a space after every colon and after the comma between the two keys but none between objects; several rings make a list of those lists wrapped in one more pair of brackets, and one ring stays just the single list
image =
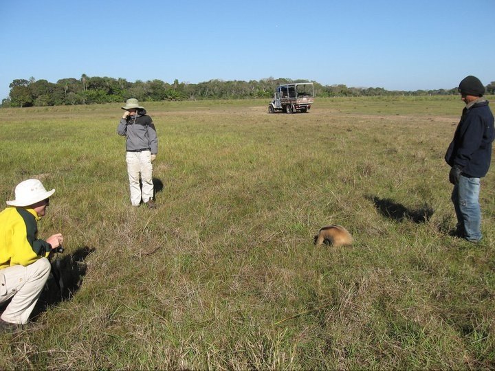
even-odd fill
[{"label": "distant band of dark green trees along the horizon", "polygon": [[[210,80],[190,84],[175,80],[172,84],[162,80],[136,82],[124,78],[89,77],[63,78],[57,82],[47,80],[17,79],[9,85],[8,98],[2,100],[2,107],[58,106],[71,104],[94,104],[124,102],[128,98],[141,101],[160,100],[212,100],[271,98],[276,87],[291,82],[288,78],[265,78],[259,81]],[[380,87],[347,87],[346,85],[321,85],[314,82],[318,97],[354,97],[373,95],[452,95],[457,89],[388,91]],[[495,93],[495,82],[487,85],[487,93]]]}]

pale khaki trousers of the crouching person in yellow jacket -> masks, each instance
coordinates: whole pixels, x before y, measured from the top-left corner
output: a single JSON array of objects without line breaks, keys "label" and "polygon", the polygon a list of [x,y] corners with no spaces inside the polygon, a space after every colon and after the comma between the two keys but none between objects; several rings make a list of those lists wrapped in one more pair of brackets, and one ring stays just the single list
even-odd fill
[{"label": "pale khaki trousers of the crouching person in yellow jacket", "polygon": [[12,297],[0,317],[3,321],[12,324],[28,323],[51,268],[47,258],[40,258],[28,267],[12,265],[0,269],[0,304]]}]

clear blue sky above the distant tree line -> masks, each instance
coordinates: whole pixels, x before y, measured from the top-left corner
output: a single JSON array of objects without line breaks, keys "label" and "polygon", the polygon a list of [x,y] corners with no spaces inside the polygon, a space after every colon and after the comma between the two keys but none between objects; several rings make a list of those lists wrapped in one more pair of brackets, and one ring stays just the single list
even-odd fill
[{"label": "clear blue sky above the distant tree line", "polygon": [[0,2],[0,100],[17,78],[306,78],[388,90],[495,80],[495,0]]}]

